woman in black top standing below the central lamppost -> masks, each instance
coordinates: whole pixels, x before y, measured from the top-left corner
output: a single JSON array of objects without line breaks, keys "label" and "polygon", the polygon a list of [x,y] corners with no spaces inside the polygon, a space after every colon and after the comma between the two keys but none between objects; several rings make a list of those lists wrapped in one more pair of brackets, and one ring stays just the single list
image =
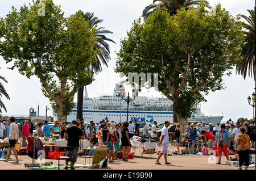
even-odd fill
[{"label": "woman in black top standing below the central lamppost", "polygon": [[[123,161],[126,161],[126,162],[128,161],[127,155],[131,150],[131,141],[129,138],[129,130],[127,128],[128,126],[129,126],[128,121],[123,122],[121,142],[122,142],[122,146],[123,146]],[[125,154],[125,152],[126,152],[126,154]]]}]

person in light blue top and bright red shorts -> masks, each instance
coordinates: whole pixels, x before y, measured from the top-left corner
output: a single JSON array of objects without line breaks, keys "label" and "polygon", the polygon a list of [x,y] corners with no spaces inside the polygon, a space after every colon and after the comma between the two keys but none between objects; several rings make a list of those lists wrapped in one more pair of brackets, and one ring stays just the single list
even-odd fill
[{"label": "person in light blue top and bright red shorts", "polygon": [[214,145],[218,146],[218,163],[221,164],[221,154],[224,153],[226,159],[229,161],[228,148],[230,148],[231,137],[229,132],[226,130],[226,125],[221,125],[221,130],[217,133],[217,138]]}]

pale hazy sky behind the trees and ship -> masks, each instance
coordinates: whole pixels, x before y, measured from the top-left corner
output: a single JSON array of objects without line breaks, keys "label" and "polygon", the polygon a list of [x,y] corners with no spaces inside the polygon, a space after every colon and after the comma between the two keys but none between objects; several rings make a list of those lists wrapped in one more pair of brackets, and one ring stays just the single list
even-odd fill
[{"label": "pale hazy sky behind the trees and ship", "polygon": [[[14,6],[19,9],[24,3],[28,5],[30,0],[0,0],[0,17],[5,17]],[[54,0],[55,5],[60,5],[65,16],[75,14],[76,11],[94,12],[94,16],[99,19],[104,19],[104,22],[98,24],[98,27],[105,27],[106,30],[112,31],[113,34],[107,36],[115,41],[109,42],[110,57],[109,66],[103,66],[103,71],[96,75],[96,80],[89,86],[86,86],[88,96],[90,98],[100,95],[113,95],[115,83],[121,79],[119,74],[114,73],[116,54],[119,51],[120,40],[127,36],[127,31],[130,31],[132,23],[135,19],[142,16],[144,7],[150,5],[153,0]],[[231,15],[238,14],[249,15],[247,10],[251,10],[255,6],[253,0],[208,0],[210,6],[221,3],[222,8],[225,8]],[[46,106],[51,108],[49,100],[42,94],[39,79],[20,75],[16,69],[9,70],[11,64],[6,64],[0,56],[0,75],[5,77],[8,83],[2,81],[3,86],[10,96],[7,100],[4,96],[2,102],[7,108],[7,112],[2,110],[2,115],[28,115],[30,108],[36,111],[39,106],[39,115],[46,115]],[[253,107],[249,106],[247,97],[255,92],[255,81],[253,78],[247,77],[243,79],[242,75],[236,74],[236,69],[232,71],[232,75],[224,75],[225,89],[210,92],[205,99],[207,102],[202,102],[201,112],[206,116],[224,116],[222,121],[230,118],[236,121],[240,117],[247,119],[253,118]],[[125,86],[126,91],[131,92],[130,86]],[[139,96],[162,97],[160,92],[154,89],[143,89],[139,92]],[[76,101],[75,95],[75,101]],[[48,110],[47,115],[52,115],[52,111]]]}]

